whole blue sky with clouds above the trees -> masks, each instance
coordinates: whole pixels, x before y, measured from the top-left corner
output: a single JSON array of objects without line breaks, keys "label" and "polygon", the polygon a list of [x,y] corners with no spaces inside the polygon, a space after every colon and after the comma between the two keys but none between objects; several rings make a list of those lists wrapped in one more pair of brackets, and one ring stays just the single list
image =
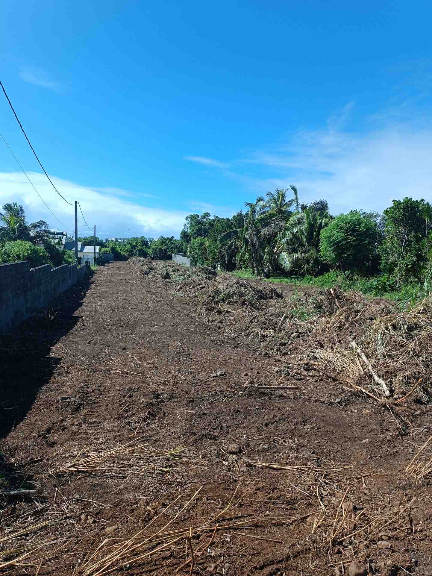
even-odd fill
[{"label": "whole blue sky with clouds above the trees", "polygon": [[[3,6],[1,78],[101,236],[178,234],[289,184],[334,214],[383,210],[432,198],[431,17],[426,1],[23,0]],[[72,226],[1,98],[0,131]],[[62,228],[0,140],[11,200]]]}]

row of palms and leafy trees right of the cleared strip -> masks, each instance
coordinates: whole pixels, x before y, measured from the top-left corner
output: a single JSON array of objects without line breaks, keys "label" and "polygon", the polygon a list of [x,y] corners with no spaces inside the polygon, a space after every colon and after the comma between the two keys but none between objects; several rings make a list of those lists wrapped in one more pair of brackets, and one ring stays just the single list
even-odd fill
[{"label": "row of palms and leafy trees right of the cleared strip", "polygon": [[331,270],[380,274],[396,286],[431,268],[432,206],[423,199],[393,200],[382,214],[351,210],[333,216],[326,200],[303,202],[291,185],[245,203],[245,209],[232,218],[186,218],[180,240],[192,264],[221,262],[226,270],[251,268],[264,277]]}]

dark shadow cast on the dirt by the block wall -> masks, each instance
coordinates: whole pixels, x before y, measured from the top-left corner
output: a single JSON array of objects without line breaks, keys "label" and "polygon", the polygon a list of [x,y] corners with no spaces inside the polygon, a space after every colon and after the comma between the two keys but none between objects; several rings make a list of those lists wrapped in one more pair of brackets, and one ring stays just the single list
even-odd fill
[{"label": "dark shadow cast on the dirt by the block wall", "polygon": [[32,314],[16,334],[0,336],[0,438],[26,418],[40,388],[62,361],[50,351],[79,321],[75,312],[90,285],[86,277]]}]

